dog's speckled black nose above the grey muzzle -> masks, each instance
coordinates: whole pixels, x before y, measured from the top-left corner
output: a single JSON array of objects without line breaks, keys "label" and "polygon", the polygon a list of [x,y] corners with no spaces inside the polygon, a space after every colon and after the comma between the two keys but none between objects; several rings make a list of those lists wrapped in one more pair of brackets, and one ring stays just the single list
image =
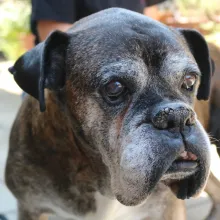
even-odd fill
[{"label": "dog's speckled black nose above the grey muzzle", "polygon": [[157,108],[152,116],[152,123],[158,129],[179,128],[195,124],[195,113],[185,105],[176,103]]}]

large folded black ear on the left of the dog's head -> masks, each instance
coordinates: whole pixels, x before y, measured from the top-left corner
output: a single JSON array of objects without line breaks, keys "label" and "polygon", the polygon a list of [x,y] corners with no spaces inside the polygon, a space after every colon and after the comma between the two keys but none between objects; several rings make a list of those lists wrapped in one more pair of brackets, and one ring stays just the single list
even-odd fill
[{"label": "large folded black ear on the left of the dog's head", "polygon": [[17,84],[39,100],[41,111],[46,109],[44,88],[59,90],[64,86],[68,42],[67,33],[54,31],[9,68]]}]

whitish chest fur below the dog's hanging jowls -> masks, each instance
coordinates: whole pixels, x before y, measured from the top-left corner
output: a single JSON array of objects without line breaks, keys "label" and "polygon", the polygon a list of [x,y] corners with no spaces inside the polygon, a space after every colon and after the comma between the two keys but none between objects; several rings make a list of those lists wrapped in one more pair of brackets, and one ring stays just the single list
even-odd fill
[{"label": "whitish chest fur below the dog's hanging jowls", "polygon": [[164,198],[167,194],[150,196],[150,198],[139,206],[128,207],[96,193],[96,212],[87,213],[85,216],[76,216],[74,213],[62,210],[58,207],[51,207],[54,212],[63,218],[74,220],[161,220],[163,219],[166,204]]}]

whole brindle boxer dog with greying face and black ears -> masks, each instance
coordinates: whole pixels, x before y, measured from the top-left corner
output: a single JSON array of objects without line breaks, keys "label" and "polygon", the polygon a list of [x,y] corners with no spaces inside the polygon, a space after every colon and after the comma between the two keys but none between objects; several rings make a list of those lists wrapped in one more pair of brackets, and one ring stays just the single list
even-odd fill
[{"label": "whole brindle boxer dog with greying face and black ears", "polygon": [[212,65],[197,31],[107,9],[9,70],[29,94],[6,166],[19,220],[184,219],[177,204],[204,189],[210,168],[193,106],[209,97]]}]

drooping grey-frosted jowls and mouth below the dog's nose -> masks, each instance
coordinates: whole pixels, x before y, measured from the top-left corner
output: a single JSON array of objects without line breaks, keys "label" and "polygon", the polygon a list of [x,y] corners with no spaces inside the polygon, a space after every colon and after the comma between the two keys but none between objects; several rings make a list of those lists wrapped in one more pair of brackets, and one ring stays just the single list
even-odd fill
[{"label": "drooping grey-frosted jowls and mouth below the dog's nose", "polygon": [[124,140],[120,168],[111,172],[113,193],[120,203],[141,204],[159,183],[170,187],[179,199],[195,197],[204,189],[210,142],[199,125],[182,135],[144,125]]}]

